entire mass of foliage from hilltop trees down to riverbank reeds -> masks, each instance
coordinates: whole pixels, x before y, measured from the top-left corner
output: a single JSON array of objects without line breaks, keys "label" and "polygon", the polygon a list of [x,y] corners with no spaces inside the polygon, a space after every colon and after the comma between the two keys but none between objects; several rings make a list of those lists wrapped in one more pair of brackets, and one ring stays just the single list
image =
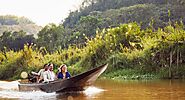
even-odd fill
[{"label": "entire mass of foliage from hilltop trees down to riverbank reeds", "polygon": [[0,36],[0,79],[52,62],[74,75],[108,63],[105,77],[185,77],[183,0],[84,0],[60,25]]}]

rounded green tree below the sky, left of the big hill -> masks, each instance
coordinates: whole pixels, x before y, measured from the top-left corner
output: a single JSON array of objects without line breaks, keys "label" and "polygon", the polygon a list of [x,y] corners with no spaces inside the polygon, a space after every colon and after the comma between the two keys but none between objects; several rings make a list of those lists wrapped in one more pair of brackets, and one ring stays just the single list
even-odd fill
[{"label": "rounded green tree below the sky, left of the big hill", "polygon": [[64,41],[65,30],[62,25],[56,26],[55,24],[49,24],[38,33],[38,46],[46,47],[50,52],[64,47]]}]

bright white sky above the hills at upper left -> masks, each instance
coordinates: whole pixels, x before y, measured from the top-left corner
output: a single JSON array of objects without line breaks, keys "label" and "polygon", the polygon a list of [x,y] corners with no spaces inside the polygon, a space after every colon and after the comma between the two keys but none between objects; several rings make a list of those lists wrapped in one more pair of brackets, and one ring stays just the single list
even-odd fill
[{"label": "bright white sky above the hills at upper left", "polygon": [[82,0],[0,0],[0,15],[24,16],[37,25],[59,24]]}]

